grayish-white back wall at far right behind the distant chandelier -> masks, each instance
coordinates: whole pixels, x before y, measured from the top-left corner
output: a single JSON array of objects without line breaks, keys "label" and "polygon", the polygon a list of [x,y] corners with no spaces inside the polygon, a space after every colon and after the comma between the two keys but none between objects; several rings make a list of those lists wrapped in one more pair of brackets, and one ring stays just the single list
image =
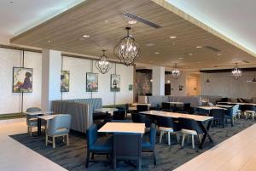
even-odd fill
[{"label": "grayish-white back wall at far right behind the distant chandelier", "polygon": [[[201,94],[220,95],[229,98],[251,99],[256,97],[256,83],[247,83],[253,80],[253,72],[243,72],[238,80],[230,77],[229,72],[201,73]],[[210,83],[207,83],[207,78]]]}]

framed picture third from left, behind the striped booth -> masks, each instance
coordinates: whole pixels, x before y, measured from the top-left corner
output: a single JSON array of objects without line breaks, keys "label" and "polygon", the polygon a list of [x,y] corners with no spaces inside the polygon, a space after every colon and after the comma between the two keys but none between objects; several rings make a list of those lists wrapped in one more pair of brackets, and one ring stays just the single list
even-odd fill
[{"label": "framed picture third from left, behind the striped booth", "polygon": [[86,92],[98,92],[98,74],[86,72]]}]

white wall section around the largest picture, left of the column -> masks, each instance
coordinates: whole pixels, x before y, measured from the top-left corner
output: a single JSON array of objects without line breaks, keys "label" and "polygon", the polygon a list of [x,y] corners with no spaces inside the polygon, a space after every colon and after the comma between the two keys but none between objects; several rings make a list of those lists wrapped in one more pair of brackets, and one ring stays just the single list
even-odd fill
[{"label": "white wall section around the largest picture, left of the column", "polygon": [[[16,113],[21,111],[21,94],[12,93],[13,67],[21,66],[20,50],[0,48],[0,114]],[[33,68],[33,87],[31,94],[24,94],[24,111],[28,106],[41,105],[41,54],[25,52],[24,66]]]}]

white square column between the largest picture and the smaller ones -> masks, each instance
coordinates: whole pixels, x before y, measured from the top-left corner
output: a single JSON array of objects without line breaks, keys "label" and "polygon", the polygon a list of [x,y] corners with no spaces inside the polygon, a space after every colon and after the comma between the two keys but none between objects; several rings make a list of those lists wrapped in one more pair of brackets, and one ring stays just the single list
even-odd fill
[{"label": "white square column between the largest picture and the smaller ones", "polygon": [[61,52],[44,49],[42,57],[41,108],[51,110],[52,100],[61,100]]}]

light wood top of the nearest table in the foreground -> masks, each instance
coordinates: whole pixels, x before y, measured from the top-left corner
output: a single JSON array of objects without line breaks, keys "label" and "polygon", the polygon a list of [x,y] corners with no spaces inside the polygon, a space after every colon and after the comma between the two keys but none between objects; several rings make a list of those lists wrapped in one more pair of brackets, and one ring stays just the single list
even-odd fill
[{"label": "light wood top of the nearest table in the foreground", "polygon": [[145,133],[145,123],[106,123],[100,133]]}]

